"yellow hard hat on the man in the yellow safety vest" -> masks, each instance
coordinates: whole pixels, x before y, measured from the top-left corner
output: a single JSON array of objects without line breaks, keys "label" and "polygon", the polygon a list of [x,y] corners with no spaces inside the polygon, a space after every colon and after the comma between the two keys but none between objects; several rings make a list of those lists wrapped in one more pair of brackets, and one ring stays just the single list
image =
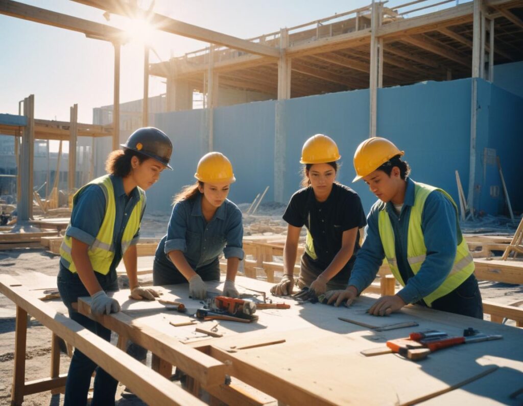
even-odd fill
[{"label": "yellow hard hat on the man in the yellow safety vest", "polygon": [[356,178],[353,182],[369,175],[386,161],[396,155],[404,155],[397,147],[382,137],[371,137],[363,141],[354,153],[354,169],[356,169]]}]

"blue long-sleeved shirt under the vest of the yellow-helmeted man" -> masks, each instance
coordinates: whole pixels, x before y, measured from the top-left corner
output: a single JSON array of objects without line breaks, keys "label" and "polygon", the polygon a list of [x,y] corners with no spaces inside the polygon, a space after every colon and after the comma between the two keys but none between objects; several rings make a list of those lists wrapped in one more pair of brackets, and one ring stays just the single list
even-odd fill
[{"label": "blue long-sleeved shirt under the vest of the yellow-helmeted man", "polygon": [[[394,246],[397,265],[405,282],[405,287],[397,293],[405,303],[416,303],[434,292],[446,279],[452,269],[458,241],[463,238],[454,205],[444,194],[434,191],[425,201],[422,212],[422,230],[427,257],[416,275],[407,262],[407,231],[414,205],[414,182],[407,178],[405,200],[400,214],[394,210],[391,202],[385,210],[390,216],[394,231]],[[381,201],[376,202],[367,216],[367,237],[359,250],[349,285],[354,285],[361,293],[369,286],[385,258],[380,238],[378,215]]]}]

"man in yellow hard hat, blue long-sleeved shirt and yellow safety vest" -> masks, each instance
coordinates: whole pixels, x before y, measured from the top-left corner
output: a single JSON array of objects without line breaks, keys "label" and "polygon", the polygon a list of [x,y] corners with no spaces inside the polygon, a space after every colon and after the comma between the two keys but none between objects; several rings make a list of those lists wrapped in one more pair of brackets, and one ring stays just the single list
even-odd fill
[{"label": "man in yellow hard hat, blue long-sleeved shirt and yellow safety vest", "polygon": [[353,182],[363,179],[379,200],[367,217],[367,237],[348,286],[328,292],[328,302],[350,305],[386,258],[403,288],[378,299],[370,314],[389,315],[414,303],[482,319],[474,261],[461,234],[456,203],[444,190],[413,181],[403,155],[380,137],[368,138],[356,149]]}]

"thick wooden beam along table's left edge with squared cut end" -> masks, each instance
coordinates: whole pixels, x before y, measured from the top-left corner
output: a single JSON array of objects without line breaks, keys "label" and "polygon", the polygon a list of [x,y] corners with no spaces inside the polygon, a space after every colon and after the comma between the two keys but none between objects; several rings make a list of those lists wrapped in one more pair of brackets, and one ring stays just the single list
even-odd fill
[{"label": "thick wooden beam along table's left edge with squared cut end", "polygon": [[164,361],[176,365],[204,385],[219,385],[225,379],[225,365],[191,349],[173,337],[135,320],[123,312],[95,317],[90,314],[90,298],[78,299],[78,312],[99,321],[103,326],[125,335]]}]

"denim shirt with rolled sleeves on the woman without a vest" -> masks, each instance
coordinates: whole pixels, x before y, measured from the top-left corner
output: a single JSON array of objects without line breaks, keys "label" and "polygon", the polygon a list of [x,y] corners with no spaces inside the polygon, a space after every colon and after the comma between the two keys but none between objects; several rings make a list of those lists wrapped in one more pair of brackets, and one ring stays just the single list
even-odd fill
[{"label": "denim shirt with rolled sleeves on the woman without a vest", "polygon": [[210,264],[223,251],[225,258],[243,259],[242,212],[226,199],[208,223],[201,212],[202,195],[178,202],[173,207],[167,228],[165,256],[179,250],[192,269]]}]

